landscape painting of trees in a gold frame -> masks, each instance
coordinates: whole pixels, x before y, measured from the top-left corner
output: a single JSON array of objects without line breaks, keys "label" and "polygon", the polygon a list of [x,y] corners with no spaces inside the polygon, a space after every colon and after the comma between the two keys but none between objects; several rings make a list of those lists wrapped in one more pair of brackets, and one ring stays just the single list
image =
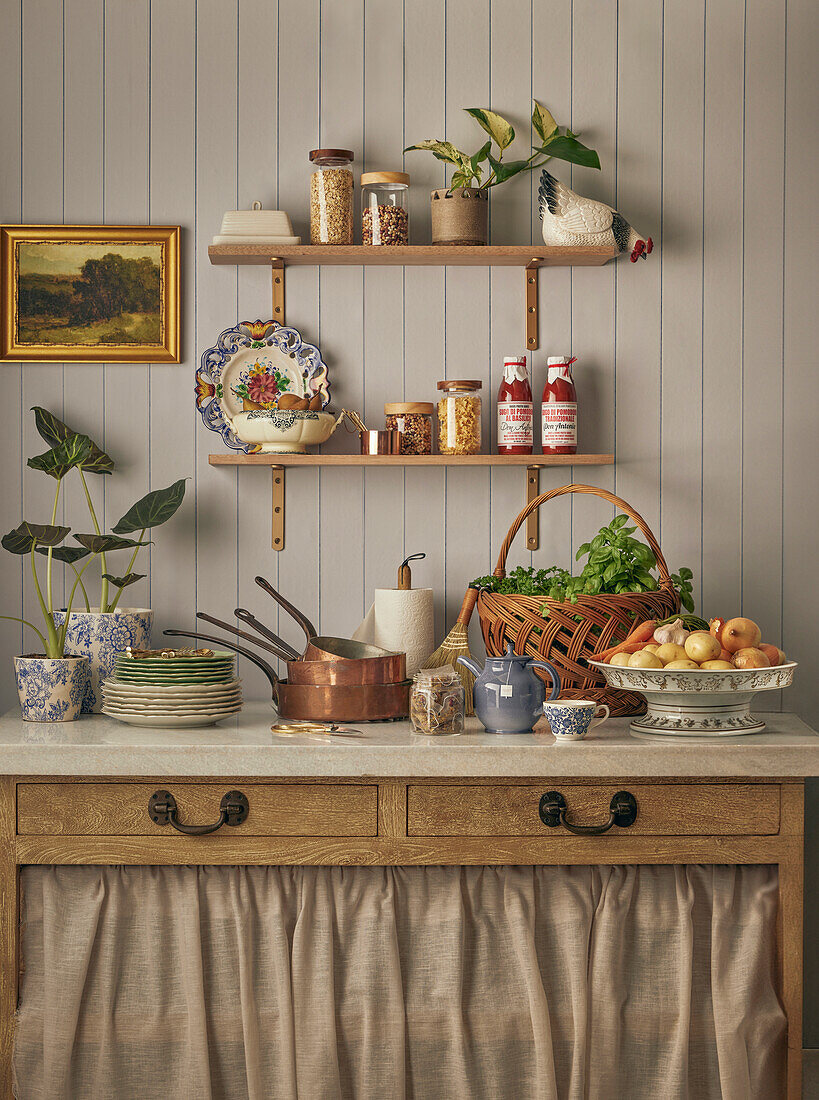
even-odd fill
[{"label": "landscape painting of trees in a gold frame", "polygon": [[1,226],[0,359],[179,362],[178,226]]}]

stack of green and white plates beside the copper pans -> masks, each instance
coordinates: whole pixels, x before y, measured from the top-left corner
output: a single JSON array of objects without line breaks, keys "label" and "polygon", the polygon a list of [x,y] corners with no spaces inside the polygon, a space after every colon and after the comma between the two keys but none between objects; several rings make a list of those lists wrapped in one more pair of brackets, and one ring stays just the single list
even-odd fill
[{"label": "stack of green and white plates beside the copper pans", "polygon": [[133,658],[120,654],[102,684],[102,713],[132,726],[212,726],[242,710],[232,653]]}]

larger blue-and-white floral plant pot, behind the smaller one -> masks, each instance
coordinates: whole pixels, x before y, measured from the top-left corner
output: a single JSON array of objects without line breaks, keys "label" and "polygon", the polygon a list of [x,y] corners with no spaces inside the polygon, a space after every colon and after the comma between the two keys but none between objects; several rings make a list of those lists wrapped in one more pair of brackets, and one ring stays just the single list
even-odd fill
[{"label": "larger blue-and-white floral plant pot, behind the smaller one", "polygon": [[[62,626],[65,612],[54,613],[54,623]],[[113,675],[117,654],[132,649],[151,648],[154,613],[147,607],[118,607],[115,612],[71,612],[66,632],[66,653],[88,658],[88,685],[82,700],[82,713],[102,710],[100,682]]]}]

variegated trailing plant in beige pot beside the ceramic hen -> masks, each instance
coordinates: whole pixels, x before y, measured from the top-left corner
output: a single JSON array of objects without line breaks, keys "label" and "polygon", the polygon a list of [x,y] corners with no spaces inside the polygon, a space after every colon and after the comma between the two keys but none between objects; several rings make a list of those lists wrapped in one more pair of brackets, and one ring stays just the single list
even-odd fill
[{"label": "variegated trailing plant in beige pot beside the ceramic hen", "polygon": [[[505,161],[503,151],[514,141],[514,129],[505,118],[484,107],[465,107],[478,125],[489,134],[489,141],[469,155],[452,142],[428,138],[412,150],[429,150],[439,161],[455,166],[450,186],[430,196],[433,244],[486,244],[488,237],[489,188],[505,184],[522,172],[540,168],[552,157],[599,168],[600,160],[593,148],[577,140],[577,134],[555,122],[549,108],[533,100],[532,129],[540,144],[532,145],[525,160]],[[497,150],[497,152],[496,152]]]}]

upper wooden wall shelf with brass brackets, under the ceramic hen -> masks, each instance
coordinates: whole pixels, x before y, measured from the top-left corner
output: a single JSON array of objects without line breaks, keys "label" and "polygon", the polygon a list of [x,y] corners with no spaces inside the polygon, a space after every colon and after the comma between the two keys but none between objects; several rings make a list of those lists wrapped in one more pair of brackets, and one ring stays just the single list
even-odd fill
[{"label": "upper wooden wall shelf with brass brackets, under the ceramic hen", "polygon": [[541,267],[601,267],[617,255],[613,248],[575,249],[554,244],[211,244],[212,264],[269,264],[274,321],[285,323],[285,266],[378,267],[520,267],[527,351],[539,346],[538,272]]}]

